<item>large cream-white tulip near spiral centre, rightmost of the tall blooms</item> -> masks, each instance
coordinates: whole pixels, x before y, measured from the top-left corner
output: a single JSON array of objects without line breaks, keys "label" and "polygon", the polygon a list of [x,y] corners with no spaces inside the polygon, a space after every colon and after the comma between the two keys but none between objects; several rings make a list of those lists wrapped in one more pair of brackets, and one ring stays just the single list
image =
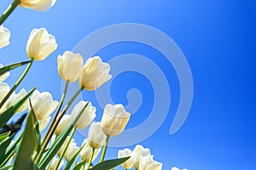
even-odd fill
[{"label": "large cream-white tulip near spiral centre, rightmost of the tall blooms", "polygon": [[123,105],[106,105],[101,122],[102,131],[110,137],[119,135],[125,129],[130,116]]}]

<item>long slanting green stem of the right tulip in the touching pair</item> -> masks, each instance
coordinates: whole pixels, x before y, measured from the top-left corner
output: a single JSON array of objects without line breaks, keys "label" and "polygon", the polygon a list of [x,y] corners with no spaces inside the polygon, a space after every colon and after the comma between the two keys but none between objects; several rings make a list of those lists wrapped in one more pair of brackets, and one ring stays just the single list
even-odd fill
[{"label": "long slanting green stem of the right tulip in the touching pair", "polygon": [[84,88],[79,88],[79,90],[73,95],[72,99],[69,100],[69,102],[67,103],[65,108],[61,111],[61,114],[58,116],[58,118],[54,122],[53,127],[49,130],[49,135],[46,137],[44,143],[41,146],[41,149],[39,150],[38,156],[35,159],[35,163],[36,164],[38,164],[38,162],[41,160],[41,157],[43,156],[44,150],[45,150],[47,144],[49,143],[49,139],[51,138],[51,136],[55,132],[55,128],[58,126],[59,122],[61,121],[62,116],[64,116],[64,114],[66,113],[67,109],[70,107],[70,105],[73,104],[73,101],[78,97],[78,95],[81,93],[81,91],[83,89]]}]

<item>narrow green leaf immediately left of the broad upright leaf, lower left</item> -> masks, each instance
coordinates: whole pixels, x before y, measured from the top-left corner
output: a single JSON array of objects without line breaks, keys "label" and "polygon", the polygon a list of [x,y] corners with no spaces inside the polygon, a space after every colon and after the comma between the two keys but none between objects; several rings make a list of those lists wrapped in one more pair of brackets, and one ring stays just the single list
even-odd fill
[{"label": "narrow green leaf immediately left of the broad upright leaf, lower left", "polygon": [[22,139],[23,134],[20,135],[19,139],[17,139],[13,144],[10,144],[8,149],[5,150],[4,155],[0,156],[0,167],[3,167],[10,159],[11,156],[15,153],[15,146]]}]

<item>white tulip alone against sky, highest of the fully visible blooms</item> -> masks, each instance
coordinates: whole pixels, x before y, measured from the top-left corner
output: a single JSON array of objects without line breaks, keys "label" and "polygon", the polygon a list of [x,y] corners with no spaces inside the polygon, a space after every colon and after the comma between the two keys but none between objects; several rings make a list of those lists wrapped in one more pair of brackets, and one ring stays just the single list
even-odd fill
[{"label": "white tulip alone against sky, highest of the fully visible blooms", "polygon": [[55,37],[45,28],[33,29],[26,43],[26,54],[30,59],[43,60],[56,48]]}]

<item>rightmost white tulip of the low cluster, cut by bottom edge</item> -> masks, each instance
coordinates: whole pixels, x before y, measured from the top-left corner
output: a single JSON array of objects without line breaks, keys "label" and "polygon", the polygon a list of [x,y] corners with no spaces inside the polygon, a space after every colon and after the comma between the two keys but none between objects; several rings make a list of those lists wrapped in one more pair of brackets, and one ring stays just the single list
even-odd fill
[{"label": "rightmost white tulip of the low cluster, cut by bottom edge", "polygon": [[162,163],[153,160],[153,156],[141,156],[138,170],[161,170]]}]

